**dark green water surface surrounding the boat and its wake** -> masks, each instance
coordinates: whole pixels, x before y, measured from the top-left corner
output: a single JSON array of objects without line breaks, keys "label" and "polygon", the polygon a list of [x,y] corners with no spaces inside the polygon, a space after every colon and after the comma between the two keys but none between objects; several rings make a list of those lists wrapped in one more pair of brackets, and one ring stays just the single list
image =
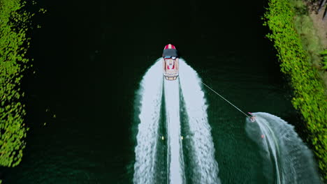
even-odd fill
[{"label": "dark green water surface surrounding the boat and its wake", "polygon": [[[24,79],[31,130],[4,183],[131,183],[134,98],[172,43],[203,82],[246,112],[296,123],[268,29],[266,1],[47,1]],[[221,183],[264,183],[245,117],[205,90]],[[49,109],[47,112],[46,109]],[[53,118],[53,115],[56,118]],[[46,123],[46,125],[43,125]]]}]

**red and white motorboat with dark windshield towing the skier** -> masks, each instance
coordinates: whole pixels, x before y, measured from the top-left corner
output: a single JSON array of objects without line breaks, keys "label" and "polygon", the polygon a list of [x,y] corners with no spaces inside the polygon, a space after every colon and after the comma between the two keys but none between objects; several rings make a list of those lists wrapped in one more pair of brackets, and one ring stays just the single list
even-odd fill
[{"label": "red and white motorboat with dark windshield towing the skier", "polygon": [[178,53],[174,45],[168,44],[163,49],[163,76],[167,80],[175,80],[178,77]]}]

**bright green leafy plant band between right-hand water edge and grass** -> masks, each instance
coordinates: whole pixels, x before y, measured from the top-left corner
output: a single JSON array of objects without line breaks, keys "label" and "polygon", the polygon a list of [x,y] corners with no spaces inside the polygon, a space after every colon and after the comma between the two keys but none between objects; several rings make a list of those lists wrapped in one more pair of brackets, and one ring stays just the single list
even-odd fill
[{"label": "bright green leafy plant band between right-hand water edge and grass", "polygon": [[327,99],[324,83],[313,68],[293,25],[294,9],[288,0],[270,0],[264,15],[282,72],[290,77],[293,106],[303,115],[319,168],[327,179]]}]

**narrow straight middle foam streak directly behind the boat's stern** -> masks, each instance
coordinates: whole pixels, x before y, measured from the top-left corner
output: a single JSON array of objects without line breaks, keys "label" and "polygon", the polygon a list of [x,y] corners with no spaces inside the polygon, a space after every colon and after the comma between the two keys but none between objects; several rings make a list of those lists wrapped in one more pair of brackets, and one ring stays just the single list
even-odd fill
[{"label": "narrow straight middle foam streak directly behind the boat's stern", "polygon": [[184,183],[184,161],[180,138],[180,89],[178,79],[164,82],[168,134],[169,183]]}]

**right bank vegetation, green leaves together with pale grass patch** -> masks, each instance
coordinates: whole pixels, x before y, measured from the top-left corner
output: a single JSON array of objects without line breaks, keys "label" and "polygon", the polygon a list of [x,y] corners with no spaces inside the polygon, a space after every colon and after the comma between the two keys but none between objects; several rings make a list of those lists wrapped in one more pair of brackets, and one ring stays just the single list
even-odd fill
[{"label": "right bank vegetation, green leaves together with pale grass patch", "polygon": [[305,122],[307,141],[312,144],[322,179],[327,181],[327,63],[321,54],[327,48],[321,45],[302,0],[269,0],[263,20],[271,31],[267,38],[277,49],[280,68],[293,89],[291,102]]}]

